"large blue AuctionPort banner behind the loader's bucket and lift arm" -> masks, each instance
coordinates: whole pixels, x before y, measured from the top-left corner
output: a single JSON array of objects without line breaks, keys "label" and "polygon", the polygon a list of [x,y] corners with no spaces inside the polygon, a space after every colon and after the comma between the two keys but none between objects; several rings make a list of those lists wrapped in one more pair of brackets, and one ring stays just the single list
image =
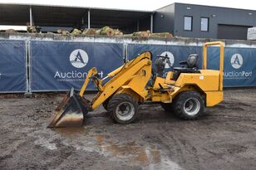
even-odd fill
[{"label": "large blue AuctionPort banner behind the loader's bucket and lift arm", "polygon": [[[123,45],[67,41],[31,41],[32,91],[80,90],[88,70],[101,78],[123,64]],[[96,90],[92,82],[87,90]]]}]

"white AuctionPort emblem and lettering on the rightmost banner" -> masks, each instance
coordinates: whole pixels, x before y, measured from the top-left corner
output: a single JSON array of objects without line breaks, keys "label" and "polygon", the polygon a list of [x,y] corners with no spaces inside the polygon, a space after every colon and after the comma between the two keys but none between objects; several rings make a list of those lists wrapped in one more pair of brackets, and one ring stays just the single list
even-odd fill
[{"label": "white AuctionPort emblem and lettering on the rightmost banner", "polygon": [[244,60],[239,53],[231,56],[230,64],[235,70],[224,71],[224,79],[250,79],[253,76],[252,70],[241,70],[243,69]]}]

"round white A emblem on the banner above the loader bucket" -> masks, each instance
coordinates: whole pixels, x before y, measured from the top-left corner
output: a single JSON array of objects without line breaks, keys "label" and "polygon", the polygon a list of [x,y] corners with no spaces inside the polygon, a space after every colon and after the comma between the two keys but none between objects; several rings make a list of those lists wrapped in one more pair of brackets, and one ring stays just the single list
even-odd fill
[{"label": "round white A emblem on the banner above the loader bucket", "polygon": [[86,51],[83,51],[81,49],[72,51],[71,55],[69,56],[69,61],[71,62],[71,65],[78,69],[86,66],[88,60],[89,58]]}]

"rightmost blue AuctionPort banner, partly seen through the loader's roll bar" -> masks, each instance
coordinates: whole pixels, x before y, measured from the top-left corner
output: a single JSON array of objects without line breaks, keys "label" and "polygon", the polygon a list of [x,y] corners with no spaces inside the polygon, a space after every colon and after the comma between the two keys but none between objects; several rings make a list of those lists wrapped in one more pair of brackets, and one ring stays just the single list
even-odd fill
[{"label": "rightmost blue AuctionPort banner, partly seen through the loader's roll bar", "polygon": [[[209,69],[219,69],[219,49],[208,51]],[[225,47],[224,87],[256,86],[256,49]]]}]

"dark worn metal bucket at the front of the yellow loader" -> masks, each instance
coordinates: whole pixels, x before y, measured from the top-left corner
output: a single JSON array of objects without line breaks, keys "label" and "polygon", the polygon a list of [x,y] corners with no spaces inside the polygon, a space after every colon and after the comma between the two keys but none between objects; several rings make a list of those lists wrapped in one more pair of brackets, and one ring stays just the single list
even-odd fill
[{"label": "dark worn metal bucket at the front of the yellow loader", "polygon": [[84,116],[88,113],[90,101],[71,91],[63,98],[62,103],[57,106],[48,128],[79,127],[84,122]]}]

